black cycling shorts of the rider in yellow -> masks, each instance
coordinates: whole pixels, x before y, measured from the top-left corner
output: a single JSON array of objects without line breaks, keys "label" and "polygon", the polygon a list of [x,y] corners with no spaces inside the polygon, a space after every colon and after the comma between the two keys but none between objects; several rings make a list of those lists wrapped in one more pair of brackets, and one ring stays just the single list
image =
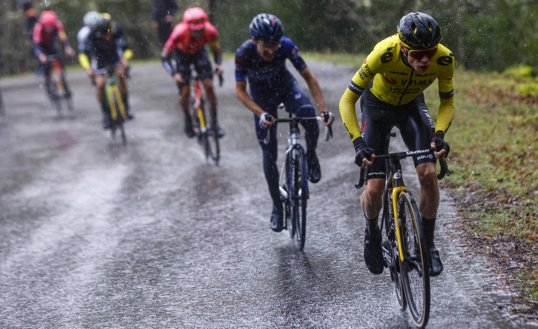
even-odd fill
[{"label": "black cycling shorts of the rider in yellow", "polygon": [[[390,131],[397,127],[409,151],[429,149],[434,135],[434,121],[424,103],[424,94],[405,105],[393,106],[382,102],[370,90],[360,97],[360,132],[374,154],[389,151]],[[435,163],[433,154],[412,156],[415,167],[420,163]],[[384,161],[374,161],[368,178],[385,178]]]}]

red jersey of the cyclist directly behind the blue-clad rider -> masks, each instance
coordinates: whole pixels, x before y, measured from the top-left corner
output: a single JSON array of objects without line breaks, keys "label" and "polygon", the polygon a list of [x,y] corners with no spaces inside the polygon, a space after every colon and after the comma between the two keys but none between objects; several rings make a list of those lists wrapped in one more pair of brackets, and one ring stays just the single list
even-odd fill
[{"label": "red jersey of the cyclist directly behind the blue-clad rider", "polygon": [[187,23],[181,22],[173,29],[170,38],[166,41],[164,49],[168,52],[172,52],[174,49],[178,49],[183,53],[194,55],[200,53],[200,50],[204,48],[206,44],[210,43],[211,48],[217,49],[218,44],[218,32],[217,28],[208,21],[205,22],[205,35],[201,41],[193,41],[190,38],[190,29]]}]

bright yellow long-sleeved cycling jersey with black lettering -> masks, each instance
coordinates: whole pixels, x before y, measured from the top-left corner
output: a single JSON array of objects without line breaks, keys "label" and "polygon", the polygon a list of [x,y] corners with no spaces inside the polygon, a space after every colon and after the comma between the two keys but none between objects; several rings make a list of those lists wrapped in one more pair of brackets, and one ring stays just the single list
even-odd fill
[{"label": "bright yellow long-sleeved cycling jersey with black lettering", "polygon": [[437,53],[431,58],[428,70],[420,73],[402,59],[399,38],[396,34],[377,43],[340,99],[340,114],[350,138],[356,139],[360,136],[355,103],[372,79],[374,80],[370,88],[372,94],[394,107],[408,104],[436,79],[439,80],[441,104],[435,131],[446,132],[454,117],[453,72],[454,55],[441,44]]}]

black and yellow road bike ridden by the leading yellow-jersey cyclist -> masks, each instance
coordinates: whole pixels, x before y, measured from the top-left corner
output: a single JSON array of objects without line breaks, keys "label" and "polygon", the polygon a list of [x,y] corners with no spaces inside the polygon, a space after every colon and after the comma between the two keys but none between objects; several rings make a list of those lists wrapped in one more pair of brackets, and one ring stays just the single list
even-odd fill
[{"label": "black and yellow road bike ridden by the leading yellow-jersey cyclist", "polygon": [[[390,136],[396,134],[391,132]],[[435,149],[427,149],[375,155],[375,161],[384,159],[386,168],[380,221],[380,230],[384,227],[384,266],[390,271],[400,309],[404,311],[409,306],[417,328],[424,328],[429,320],[429,250],[426,248],[419,208],[404,185],[400,160],[415,155],[434,156],[434,151]],[[446,159],[440,158],[439,163],[441,172],[437,178],[449,176]],[[360,181],[355,184],[355,188],[367,184],[367,175],[368,166],[361,169]]]}]

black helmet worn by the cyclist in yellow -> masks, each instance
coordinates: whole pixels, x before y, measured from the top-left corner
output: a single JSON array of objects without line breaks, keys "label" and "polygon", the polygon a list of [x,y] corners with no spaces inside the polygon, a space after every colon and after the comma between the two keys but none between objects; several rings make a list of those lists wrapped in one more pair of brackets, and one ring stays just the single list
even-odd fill
[{"label": "black helmet worn by the cyclist in yellow", "polygon": [[402,17],[398,24],[399,41],[407,48],[426,50],[441,40],[441,28],[428,14],[414,11]]}]

